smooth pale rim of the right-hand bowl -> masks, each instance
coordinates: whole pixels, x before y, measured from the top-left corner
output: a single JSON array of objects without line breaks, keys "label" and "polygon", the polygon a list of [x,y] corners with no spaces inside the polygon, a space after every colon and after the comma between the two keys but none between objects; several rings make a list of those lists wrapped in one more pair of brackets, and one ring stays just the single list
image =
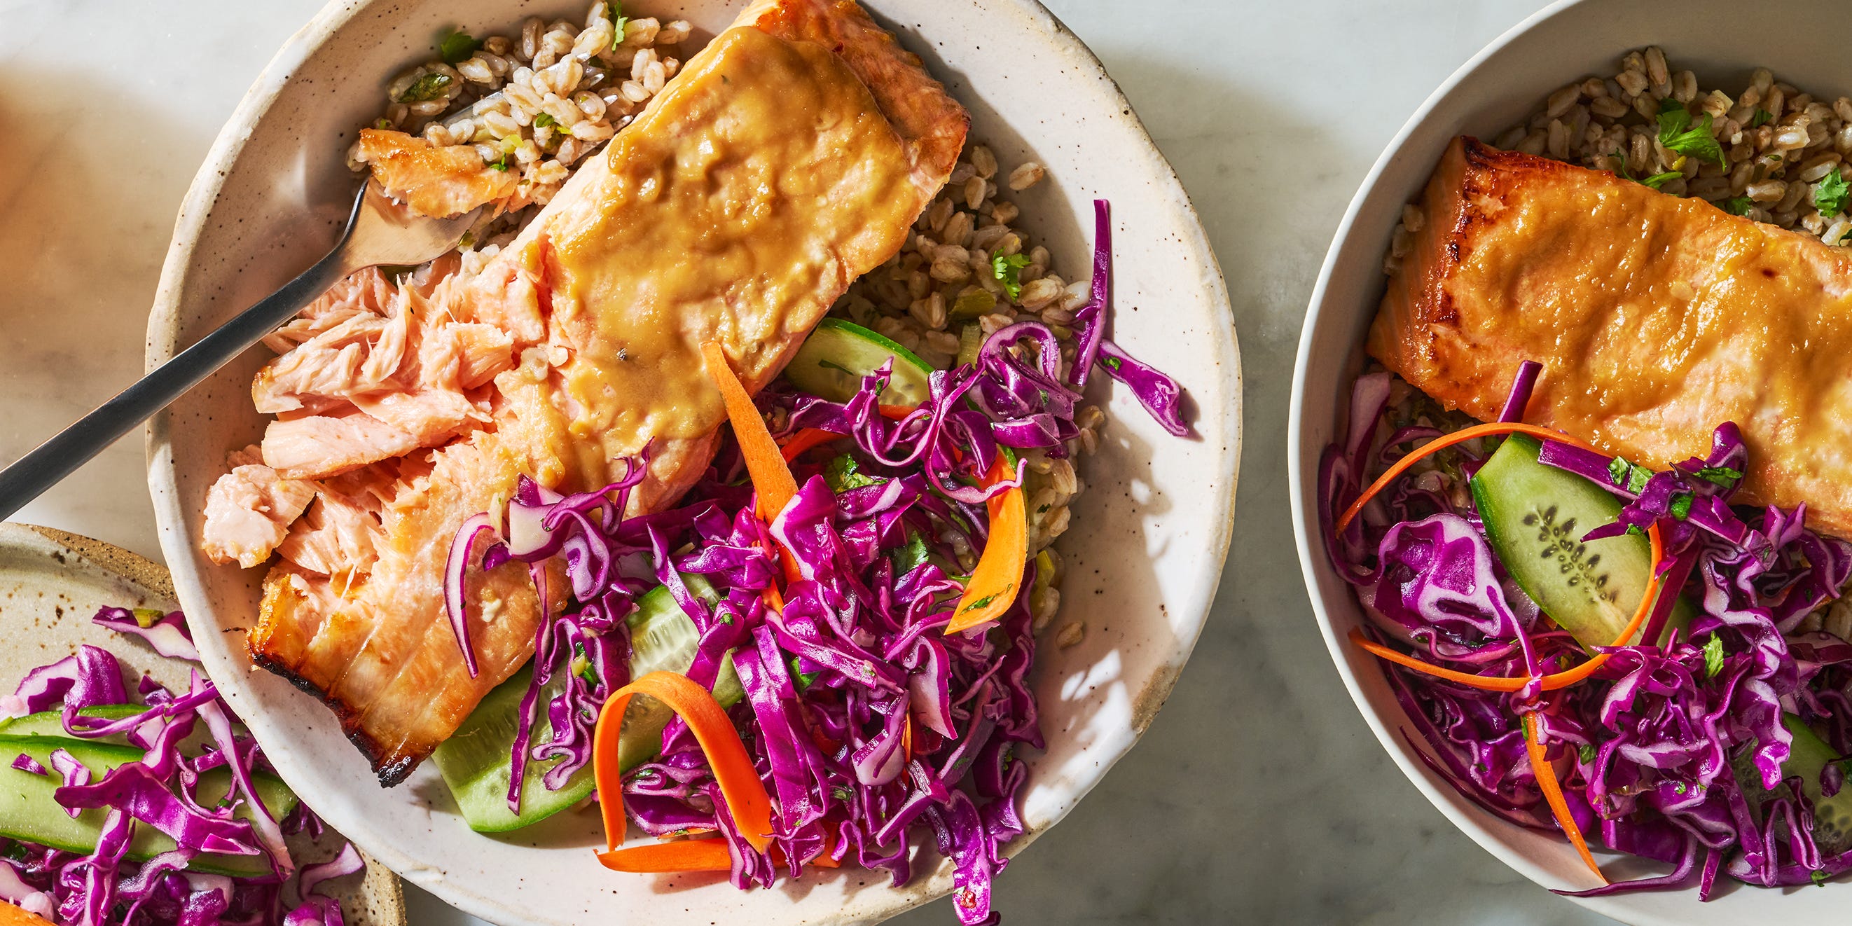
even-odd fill
[{"label": "smooth pale rim of the right-hand bowl", "polygon": [[[1300,574],[1306,582],[1306,594],[1311,600],[1313,619],[1319,624],[1319,633],[1324,637],[1326,652],[1332,657],[1333,669],[1337,669],[1339,678],[1345,683],[1345,691],[1350,693],[1352,704],[1358,713],[1363,715],[1363,722],[1369,724],[1370,732],[1376,733],[1376,741],[1382,743],[1383,752],[1402,769],[1402,774],[1409,780],[1428,798],[1433,809],[1441,811],[1454,828],[1465,833],[1469,839],[1480,845],[1493,857],[1511,867],[1524,878],[1530,878],[1539,887],[1558,891],[1574,889],[1580,885],[1559,883],[1559,880],[1546,869],[1532,863],[1524,856],[1509,852],[1504,843],[1493,835],[1493,832],[1478,819],[1470,817],[1461,804],[1456,804],[1456,796],[1450,789],[1443,789],[1430,778],[1428,769],[1420,765],[1415,756],[1415,748],[1402,743],[1396,733],[1378,713],[1369,696],[1363,691],[1358,674],[1352,670],[1346,657],[1348,639],[1337,633],[1330,611],[1324,606],[1324,598],[1319,591],[1319,563],[1324,559],[1324,543],[1317,535],[1319,513],[1317,506],[1311,504],[1309,494],[1317,491],[1315,485],[1308,485],[1306,478],[1306,450],[1302,446],[1300,435],[1306,430],[1306,370],[1311,363],[1315,333],[1326,317],[1326,289],[1330,289],[1332,274],[1337,269],[1339,256],[1345,244],[1354,233],[1358,233],[1358,217],[1363,211],[1365,200],[1376,191],[1382,174],[1389,165],[1404,154],[1404,146],[1409,137],[1415,135],[1428,122],[1433,111],[1445,104],[1461,85],[1474,80],[1480,67],[1485,65],[1498,52],[1506,50],[1511,43],[1522,39],[1526,33],[1541,26],[1543,22],[1563,15],[1569,9],[1595,4],[1598,0],[1556,0],[1554,4],[1524,17],[1509,30],[1502,31],[1496,39],[1480,48],[1472,57],[1461,63],[1439,87],[1433,89],[1422,100],[1422,104],[1408,117],[1402,128],[1393,139],[1383,146],[1382,154],[1376,156],[1376,163],[1370,165],[1369,174],[1358,185],[1356,194],[1350,198],[1350,206],[1345,209],[1343,219],[1337,222],[1337,230],[1332,233],[1332,244],[1324,254],[1324,261],[1319,267],[1317,283],[1311,289],[1311,296],[1306,304],[1306,320],[1300,328],[1298,350],[1293,357],[1293,387],[1291,387],[1291,406],[1287,409],[1287,494],[1293,511],[1293,541],[1298,546]],[[1337,313],[1341,309],[1330,309]],[[1567,843],[1565,843],[1567,850]],[[1569,896],[1569,895],[1561,895]],[[1582,898],[1569,896],[1576,904],[1595,909],[1608,917],[1632,915],[1637,917],[1639,911],[1617,906],[1611,898]]]}]

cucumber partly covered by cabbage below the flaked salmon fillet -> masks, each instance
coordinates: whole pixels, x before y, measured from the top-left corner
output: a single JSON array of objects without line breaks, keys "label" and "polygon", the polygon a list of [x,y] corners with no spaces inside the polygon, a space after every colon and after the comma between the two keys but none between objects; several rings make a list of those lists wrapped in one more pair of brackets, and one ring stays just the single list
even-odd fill
[{"label": "cucumber partly covered by cabbage below the flaked salmon fillet", "polygon": [[[689,591],[707,600],[719,600],[700,576],[682,576]],[[667,585],[657,585],[637,598],[637,611],[626,619],[630,626],[630,676],[637,678],[654,670],[687,672],[694,661],[694,646],[700,635],[694,622],[682,611]],[[507,809],[507,783],[513,772],[509,752],[515,748],[515,722],[520,715],[520,696],[533,678],[532,667],[522,669],[507,682],[494,687],[470,711],[463,726],[450,739],[443,741],[433,754],[437,770],[444,776],[450,795],[463,811],[463,820],[478,833],[506,833],[541,822],[591,795],[593,769],[585,765],[567,780],[559,791],[548,791],[541,776],[557,765],[556,761],[528,761],[526,778],[520,785],[520,813]],[[546,702],[565,691],[567,680],[556,676],[544,689],[535,707],[532,743],[544,743],[552,737],[552,724],[546,720]],[[745,696],[739,676],[733,672],[733,657],[720,663],[720,678],[713,687],[715,700],[722,707],[732,707]],[[630,769],[648,761],[661,748],[663,728],[674,711],[648,696],[630,700],[624,713],[624,735],[619,741],[619,765]]]}]

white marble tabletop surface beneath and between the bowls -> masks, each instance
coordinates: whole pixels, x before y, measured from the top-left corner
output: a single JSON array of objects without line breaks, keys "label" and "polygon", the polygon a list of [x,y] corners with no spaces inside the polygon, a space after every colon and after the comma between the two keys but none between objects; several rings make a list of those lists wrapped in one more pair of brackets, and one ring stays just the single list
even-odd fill
[{"label": "white marble tabletop surface beneath and between the bowls", "polygon": [[[319,6],[0,0],[0,461],[141,370],[180,198]],[[1248,439],[1241,526],[1189,670],[1143,745],[1011,865],[998,907],[1076,924],[1606,922],[1495,861],[1395,770],[1339,687],[1285,539],[1287,383],[1330,233],[1428,91],[1543,2],[1048,6],[1124,85],[1202,211],[1245,350]],[[141,439],[20,520],[159,556]],[[411,917],[476,922],[422,895]],[[954,917],[939,902],[895,922]]]}]

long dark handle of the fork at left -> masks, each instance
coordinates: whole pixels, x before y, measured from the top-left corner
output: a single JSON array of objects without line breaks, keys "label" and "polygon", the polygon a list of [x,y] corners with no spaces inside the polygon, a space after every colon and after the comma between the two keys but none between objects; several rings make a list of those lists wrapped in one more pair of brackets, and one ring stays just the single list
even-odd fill
[{"label": "long dark handle of the fork at left", "polygon": [[57,432],[50,441],[0,470],[0,519],[13,517],[26,502],[57,485],[119,437],[200,385],[219,367],[263,341],[263,335],[293,319],[315,296],[359,269],[350,267],[350,263],[343,237],[326,257],[283,283],[283,289],[194,341],[193,346],[98,406],[96,411],[78,419],[76,424]]}]

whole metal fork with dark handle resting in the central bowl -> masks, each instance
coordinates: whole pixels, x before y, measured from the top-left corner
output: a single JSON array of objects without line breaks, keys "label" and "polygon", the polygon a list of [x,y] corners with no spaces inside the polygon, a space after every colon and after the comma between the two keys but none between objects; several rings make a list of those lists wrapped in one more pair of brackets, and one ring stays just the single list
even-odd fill
[{"label": "whole metal fork with dark handle resting in the central bowl", "polygon": [[419,265],[443,257],[463,241],[480,211],[426,219],[394,204],[376,183],[367,181],[354,196],[354,211],[348,213],[341,241],[315,267],[0,470],[0,519],[11,517],[150,415],[187,394],[341,278],[367,267]]}]

